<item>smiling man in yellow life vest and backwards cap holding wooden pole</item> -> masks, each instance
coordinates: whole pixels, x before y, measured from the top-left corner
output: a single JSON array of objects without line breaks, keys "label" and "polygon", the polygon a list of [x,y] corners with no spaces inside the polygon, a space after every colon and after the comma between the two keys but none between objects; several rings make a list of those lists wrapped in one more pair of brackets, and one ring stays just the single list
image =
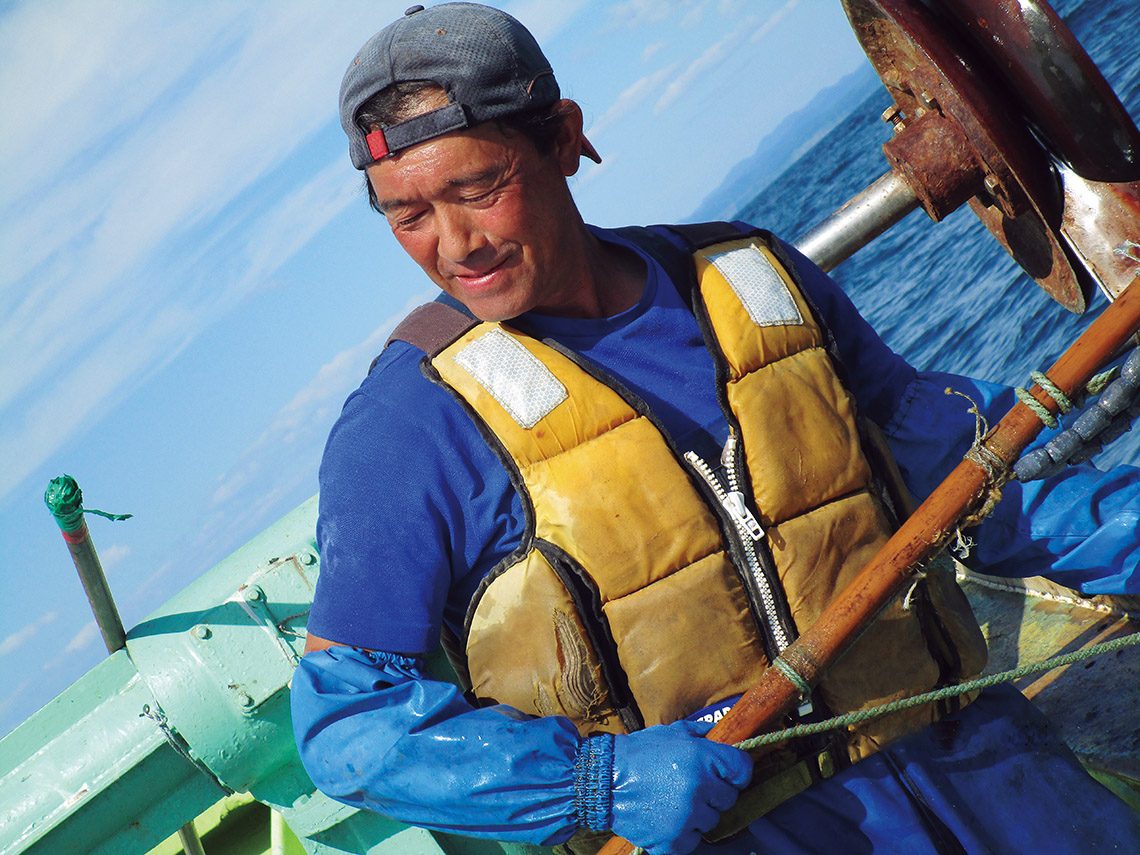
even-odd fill
[{"label": "smiling man in yellow life vest and backwards cap holding wooden pole", "polygon": [[[904,497],[878,430],[925,494],[972,438],[947,382],[987,410],[1008,391],[915,374],[774,238],[585,225],[581,112],[503,13],[413,7],[353,59],[341,117],[446,296],[398,329],[321,464],[293,709],[325,792],[573,852],[612,829],[685,853],[714,826],[726,853],[1140,845],[1011,690],[755,763],[701,735],[889,536]],[[1010,487],[978,553],[1129,589],[1138,483]],[[441,633],[469,695],[424,666]],[[953,683],[977,643],[931,572],[797,716]]]}]

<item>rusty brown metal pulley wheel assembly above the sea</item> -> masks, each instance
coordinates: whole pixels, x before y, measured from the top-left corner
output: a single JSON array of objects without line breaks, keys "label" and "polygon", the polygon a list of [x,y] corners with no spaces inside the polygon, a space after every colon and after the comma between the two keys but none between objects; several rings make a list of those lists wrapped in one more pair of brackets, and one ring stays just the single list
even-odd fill
[{"label": "rusty brown metal pulley wheel assembly above the sea", "polygon": [[927,213],[968,203],[1070,311],[1094,284],[1123,290],[1140,269],[1117,251],[1140,229],[1140,131],[1056,13],[1043,0],[842,3],[894,99],[883,153]]}]

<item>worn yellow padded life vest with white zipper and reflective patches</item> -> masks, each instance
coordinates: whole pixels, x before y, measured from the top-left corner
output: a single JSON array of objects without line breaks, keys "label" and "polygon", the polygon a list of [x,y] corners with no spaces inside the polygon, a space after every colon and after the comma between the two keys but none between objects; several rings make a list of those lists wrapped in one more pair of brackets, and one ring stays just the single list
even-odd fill
[{"label": "worn yellow padded life vest with white zipper and reflective patches", "polygon": [[[777,252],[757,234],[693,255],[734,446],[732,481],[717,487],[642,401],[572,353],[481,323],[431,358],[527,513],[521,546],[467,613],[477,697],[569,716],[584,734],[676,720],[746,691],[890,536],[893,464]],[[816,702],[858,709],[984,662],[964,595],[930,572],[828,673]],[[938,715],[861,725],[849,759]]]}]

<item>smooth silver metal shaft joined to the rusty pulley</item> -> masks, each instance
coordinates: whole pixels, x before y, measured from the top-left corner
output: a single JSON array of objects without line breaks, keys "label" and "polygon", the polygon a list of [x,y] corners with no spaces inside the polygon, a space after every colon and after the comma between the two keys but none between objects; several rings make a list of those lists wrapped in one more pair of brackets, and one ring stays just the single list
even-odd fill
[{"label": "smooth silver metal shaft joined to the rusty pulley", "polygon": [[918,206],[914,192],[890,171],[808,229],[795,245],[823,270],[831,270]]}]

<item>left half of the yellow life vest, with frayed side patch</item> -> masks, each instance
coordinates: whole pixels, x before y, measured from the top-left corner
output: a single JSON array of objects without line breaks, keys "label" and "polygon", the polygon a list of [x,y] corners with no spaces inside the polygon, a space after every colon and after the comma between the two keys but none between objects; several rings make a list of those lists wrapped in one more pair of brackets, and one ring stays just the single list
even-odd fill
[{"label": "left half of the yellow life vest, with frayed side patch", "polygon": [[[529,429],[483,385],[492,381],[464,368],[466,348],[504,333],[567,390]],[[716,515],[651,420],[564,355],[500,324],[472,329],[432,365],[494,432],[534,508],[530,547],[492,571],[471,611],[467,667],[479,697],[535,715],[548,714],[551,699],[577,699],[557,709],[584,733],[620,732],[674,720],[759,676],[763,643]],[[537,544],[572,556],[572,567],[552,569]],[[684,613],[657,605],[678,612],[677,602]],[[728,667],[694,671],[698,649]],[[610,682],[603,660],[613,663]],[[567,668],[593,702],[569,691]]]}]

